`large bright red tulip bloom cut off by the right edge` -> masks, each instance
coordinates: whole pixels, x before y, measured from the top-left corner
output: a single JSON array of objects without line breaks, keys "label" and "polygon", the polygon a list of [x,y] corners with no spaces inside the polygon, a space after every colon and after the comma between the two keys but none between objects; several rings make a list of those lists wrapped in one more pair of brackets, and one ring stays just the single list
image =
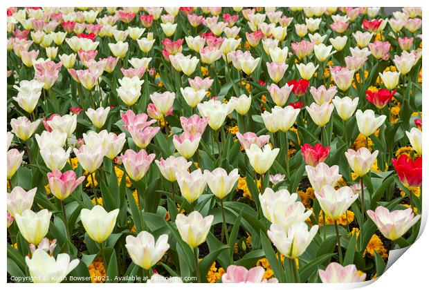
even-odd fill
[{"label": "large bright red tulip bloom cut off by the right edge", "polygon": [[392,159],[392,164],[398,173],[399,180],[408,189],[421,186],[421,157],[412,160],[408,155],[401,155]]}]

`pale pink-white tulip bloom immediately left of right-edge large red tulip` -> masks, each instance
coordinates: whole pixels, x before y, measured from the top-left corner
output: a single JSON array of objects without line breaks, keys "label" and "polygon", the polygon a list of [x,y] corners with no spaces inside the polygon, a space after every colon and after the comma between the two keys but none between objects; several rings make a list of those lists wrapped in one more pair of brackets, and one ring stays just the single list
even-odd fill
[{"label": "pale pink-white tulip bloom immediately left of right-edge large red tulip", "polygon": [[358,151],[349,149],[344,154],[350,168],[352,168],[354,173],[362,177],[371,170],[377,158],[378,150],[371,153],[366,147],[361,147]]}]

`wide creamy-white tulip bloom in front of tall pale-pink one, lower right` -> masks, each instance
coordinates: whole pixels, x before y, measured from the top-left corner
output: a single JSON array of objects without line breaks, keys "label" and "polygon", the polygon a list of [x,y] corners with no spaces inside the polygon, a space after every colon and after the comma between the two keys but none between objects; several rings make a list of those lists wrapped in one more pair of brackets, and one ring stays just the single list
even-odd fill
[{"label": "wide creamy-white tulip bloom in front of tall pale-pink one, lower right", "polygon": [[271,224],[268,238],[280,253],[289,259],[295,259],[309,247],[318,229],[319,226],[311,226],[309,230],[304,222],[291,225],[288,231],[285,231],[282,226]]}]

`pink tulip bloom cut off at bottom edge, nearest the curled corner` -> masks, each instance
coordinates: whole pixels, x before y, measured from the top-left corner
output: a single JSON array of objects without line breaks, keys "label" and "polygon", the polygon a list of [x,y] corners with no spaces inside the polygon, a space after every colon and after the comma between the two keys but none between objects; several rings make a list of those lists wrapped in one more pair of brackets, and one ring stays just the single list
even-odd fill
[{"label": "pink tulip bloom cut off at bottom edge, nearest the curled corner", "polygon": [[365,281],[367,274],[360,275],[354,264],[342,266],[331,262],[325,271],[319,269],[319,277],[323,283],[357,283]]}]

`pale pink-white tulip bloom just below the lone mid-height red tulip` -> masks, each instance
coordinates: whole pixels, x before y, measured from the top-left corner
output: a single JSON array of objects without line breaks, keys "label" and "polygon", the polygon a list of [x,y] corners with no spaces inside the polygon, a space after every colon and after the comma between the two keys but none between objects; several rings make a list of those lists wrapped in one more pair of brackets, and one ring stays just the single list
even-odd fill
[{"label": "pale pink-white tulip bloom just below the lone mid-height red tulip", "polygon": [[341,175],[339,174],[338,165],[329,167],[324,162],[320,162],[316,166],[305,166],[307,176],[314,191],[319,192],[324,185],[336,186]]}]

